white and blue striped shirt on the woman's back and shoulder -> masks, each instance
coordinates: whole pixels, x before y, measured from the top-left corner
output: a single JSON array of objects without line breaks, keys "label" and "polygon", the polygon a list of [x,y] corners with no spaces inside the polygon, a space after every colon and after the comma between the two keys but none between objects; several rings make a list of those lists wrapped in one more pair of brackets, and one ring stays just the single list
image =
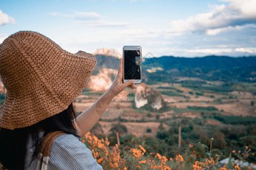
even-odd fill
[{"label": "white and blue striped shirt on the woman's back and shoulder", "polygon": [[[37,160],[33,160],[34,147],[28,140],[25,169],[36,169]],[[29,165],[29,167],[28,167]],[[72,134],[57,137],[51,147],[47,169],[103,169],[93,158],[92,151]]]}]

